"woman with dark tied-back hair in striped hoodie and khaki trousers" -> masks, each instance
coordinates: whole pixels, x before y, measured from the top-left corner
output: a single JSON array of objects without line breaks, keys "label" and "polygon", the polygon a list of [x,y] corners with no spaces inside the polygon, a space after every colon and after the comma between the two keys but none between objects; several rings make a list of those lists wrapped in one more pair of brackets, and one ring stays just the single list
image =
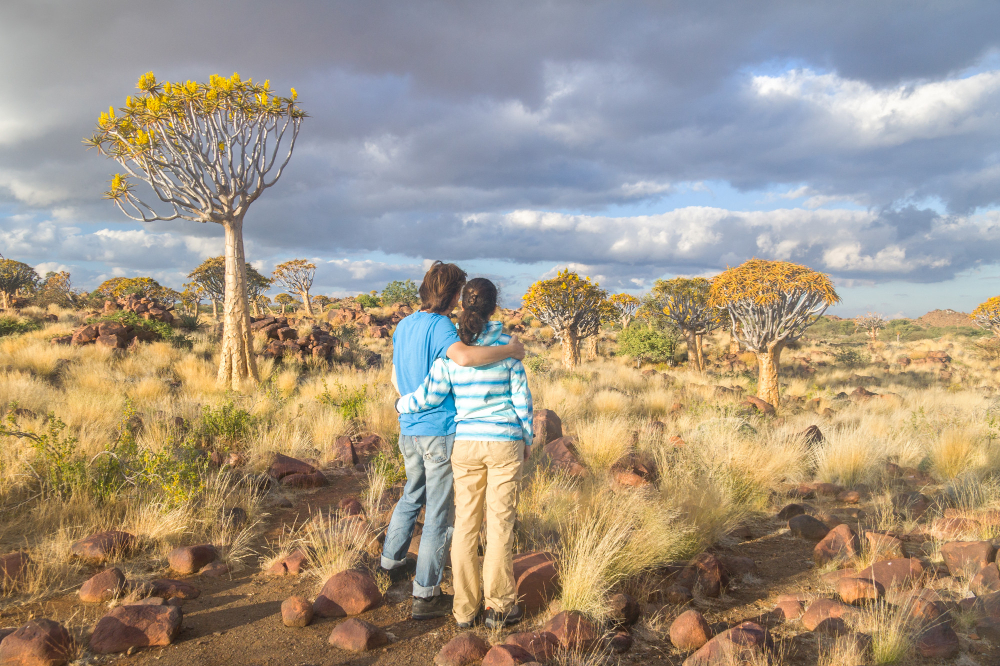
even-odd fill
[{"label": "woman with dark tied-back hair in striped hoodie and khaki trousers", "polygon": [[[458,336],[467,345],[502,345],[503,325],[489,321],[496,286],[484,278],[465,285]],[[470,368],[438,359],[416,391],[396,401],[400,414],[426,413],[454,400],[458,424],[451,467],[455,477],[455,531],[451,547],[455,621],[487,627],[520,622],[513,545],[517,482],[532,442],[531,391],[516,359]],[[486,512],[486,549],[479,563],[479,534]],[[482,591],[481,591],[482,590]]]}]

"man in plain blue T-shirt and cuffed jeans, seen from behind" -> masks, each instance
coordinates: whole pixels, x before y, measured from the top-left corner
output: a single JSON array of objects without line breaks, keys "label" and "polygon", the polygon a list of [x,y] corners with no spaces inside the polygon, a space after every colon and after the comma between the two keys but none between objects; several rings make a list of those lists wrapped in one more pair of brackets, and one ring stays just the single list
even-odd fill
[{"label": "man in plain blue T-shirt and cuffed jeans, seen from behind", "polygon": [[[458,305],[465,280],[465,272],[454,264],[436,261],[427,271],[420,285],[420,310],[403,318],[392,336],[392,373],[397,390],[416,390],[438,359],[476,366],[524,358],[524,345],[516,338],[506,345],[490,347],[473,346],[459,339],[448,315]],[[441,578],[454,517],[454,400],[444,400],[419,414],[401,415],[399,431],[406,485],[389,520],[380,564],[393,583],[414,575],[413,619],[444,617],[452,610],[452,597],[441,594]],[[424,527],[414,561],[406,554],[422,508]]]}]

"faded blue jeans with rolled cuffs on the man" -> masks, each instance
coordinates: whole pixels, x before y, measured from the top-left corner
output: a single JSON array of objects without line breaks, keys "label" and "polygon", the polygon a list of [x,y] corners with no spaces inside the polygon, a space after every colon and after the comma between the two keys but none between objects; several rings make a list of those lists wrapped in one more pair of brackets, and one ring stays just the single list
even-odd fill
[{"label": "faded blue jeans with rolled cuffs on the man", "polygon": [[399,448],[406,465],[406,487],[392,510],[382,546],[382,567],[392,569],[405,562],[417,516],[420,508],[426,506],[417,573],[413,578],[415,597],[441,594],[444,560],[451,548],[455,525],[455,484],[451,473],[454,445],[454,435],[399,436]]}]

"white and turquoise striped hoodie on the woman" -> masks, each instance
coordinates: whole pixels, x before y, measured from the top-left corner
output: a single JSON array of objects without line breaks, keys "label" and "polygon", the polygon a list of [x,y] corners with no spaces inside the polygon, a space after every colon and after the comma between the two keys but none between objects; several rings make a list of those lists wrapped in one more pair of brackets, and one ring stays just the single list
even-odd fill
[{"label": "white and turquoise striped hoodie on the woman", "polygon": [[[476,339],[482,347],[505,345],[503,324],[487,323]],[[478,368],[464,368],[439,358],[431,365],[423,385],[396,402],[400,414],[413,414],[440,405],[455,394],[455,439],[484,441],[524,440],[531,446],[532,406],[528,377],[520,361],[508,358]]]}]

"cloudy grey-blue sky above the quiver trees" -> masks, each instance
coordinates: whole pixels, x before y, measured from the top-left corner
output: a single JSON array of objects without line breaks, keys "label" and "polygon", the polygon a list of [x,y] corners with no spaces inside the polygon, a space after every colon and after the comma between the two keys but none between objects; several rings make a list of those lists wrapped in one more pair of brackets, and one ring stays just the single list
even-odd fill
[{"label": "cloudy grey-blue sky above the quiver trees", "polygon": [[0,253],[180,287],[221,227],[130,221],[81,140],[147,71],[239,72],[309,114],[244,237],[261,270],[316,263],[314,294],[442,259],[516,306],[563,267],[638,295],[758,257],[830,274],[840,316],[968,312],[1000,293],[997,25],[962,0],[5,0]]}]

